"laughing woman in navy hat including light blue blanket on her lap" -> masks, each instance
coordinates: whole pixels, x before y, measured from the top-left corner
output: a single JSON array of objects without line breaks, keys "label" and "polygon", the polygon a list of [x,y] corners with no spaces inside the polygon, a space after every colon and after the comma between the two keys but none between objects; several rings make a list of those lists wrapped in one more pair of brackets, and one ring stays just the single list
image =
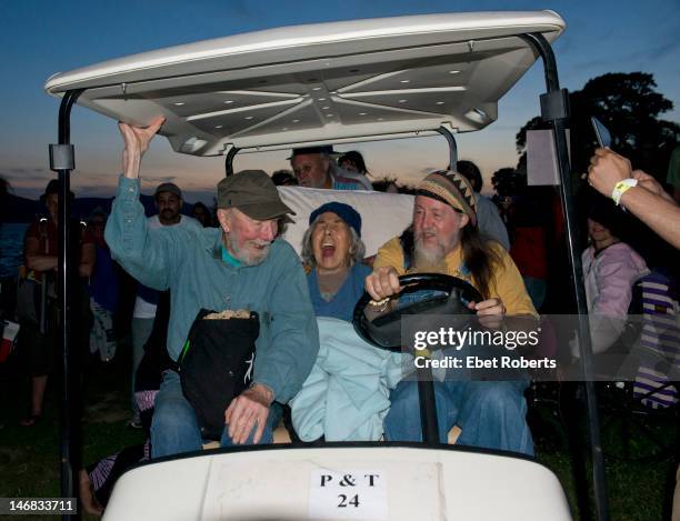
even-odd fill
[{"label": "laughing woman in navy hat including light blue blanket on her lap", "polygon": [[312,442],[376,441],[390,407],[389,390],[402,374],[401,353],[368,344],[354,332],[352,313],[371,269],[361,263],[361,217],[329,202],[314,210],[302,239],[310,269],[309,294],[319,325],[319,355],[290,402],[298,438]]}]

